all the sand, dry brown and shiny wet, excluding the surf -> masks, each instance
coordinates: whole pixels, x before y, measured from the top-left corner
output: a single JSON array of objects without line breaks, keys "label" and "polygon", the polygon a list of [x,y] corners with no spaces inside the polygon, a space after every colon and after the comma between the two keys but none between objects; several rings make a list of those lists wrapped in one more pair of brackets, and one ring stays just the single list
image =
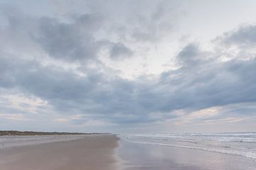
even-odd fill
[{"label": "all the sand, dry brown and shiny wet, excluding the surf", "polygon": [[[1,148],[3,139],[16,145]],[[255,160],[238,155],[149,145],[119,135],[0,136],[4,170],[254,170],[255,166]]]}]

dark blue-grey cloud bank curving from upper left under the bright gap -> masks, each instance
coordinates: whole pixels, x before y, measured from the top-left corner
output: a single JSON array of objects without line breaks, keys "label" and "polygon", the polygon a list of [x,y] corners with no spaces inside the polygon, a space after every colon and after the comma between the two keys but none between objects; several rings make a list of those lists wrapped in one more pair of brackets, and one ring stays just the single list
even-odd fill
[{"label": "dark blue-grey cloud bank curving from upper left under the bright gap", "polygon": [[[221,61],[225,52],[207,52],[191,43],[176,56],[178,69],[163,72],[154,79],[142,75],[128,80],[114,74],[99,60],[102,48],[109,50],[111,60],[122,60],[133,53],[124,42],[97,39],[106,16],[82,14],[63,22],[23,13],[1,15],[6,20],[0,30],[1,94],[16,91],[42,98],[56,113],[80,114],[112,123],[142,123],[175,118],[177,115],[172,112],[180,109],[196,111],[256,101],[255,54],[250,60],[242,60],[238,54]],[[155,17],[158,21],[159,16]],[[215,45],[225,49],[247,48],[251,55],[256,43],[255,30],[256,26],[245,26],[225,33]],[[137,38],[142,39],[142,35]],[[38,57],[35,49],[45,55]],[[78,64],[75,70],[80,74],[55,64],[43,64],[45,59]],[[151,113],[159,116],[151,117]]]}]

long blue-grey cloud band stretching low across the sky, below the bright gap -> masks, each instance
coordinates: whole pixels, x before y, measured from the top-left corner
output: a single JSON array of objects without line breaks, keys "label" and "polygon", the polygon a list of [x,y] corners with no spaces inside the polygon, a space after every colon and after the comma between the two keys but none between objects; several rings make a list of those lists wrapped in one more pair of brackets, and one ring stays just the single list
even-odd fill
[{"label": "long blue-grey cloud band stretching low across the sky, below the bright gap", "polygon": [[[191,54],[195,54],[193,50]],[[178,109],[196,111],[256,101],[256,60],[215,61],[208,63],[211,67],[196,64],[193,72],[181,67],[161,74],[160,79],[134,81],[109,79],[95,71],[78,77],[38,62],[16,60],[19,64],[15,64],[9,60],[9,69],[4,72],[11,75],[23,93],[43,98],[59,113],[85,114],[113,123],[150,122],[176,118],[171,112]],[[151,113],[164,117],[151,118]]]}]

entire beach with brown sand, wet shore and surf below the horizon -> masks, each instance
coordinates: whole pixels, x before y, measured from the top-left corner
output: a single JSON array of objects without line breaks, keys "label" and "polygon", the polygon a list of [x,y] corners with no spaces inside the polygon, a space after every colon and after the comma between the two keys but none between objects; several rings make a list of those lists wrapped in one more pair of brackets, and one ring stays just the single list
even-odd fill
[{"label": "entire beach with brown sand, wet shore and surf below the horizon", "polygon": [[256,133],[1,136],[4,170],[255,170]]}]

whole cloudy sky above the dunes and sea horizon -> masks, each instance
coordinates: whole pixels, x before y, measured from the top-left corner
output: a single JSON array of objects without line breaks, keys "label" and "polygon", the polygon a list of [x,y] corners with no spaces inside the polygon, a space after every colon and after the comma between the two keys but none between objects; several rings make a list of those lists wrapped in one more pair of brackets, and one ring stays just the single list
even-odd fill
[{"label": "whole cloudy sky above the dunes and sea horizon", "polygon": [[255,131],[255,8],[0,0],[0,129]]}]

